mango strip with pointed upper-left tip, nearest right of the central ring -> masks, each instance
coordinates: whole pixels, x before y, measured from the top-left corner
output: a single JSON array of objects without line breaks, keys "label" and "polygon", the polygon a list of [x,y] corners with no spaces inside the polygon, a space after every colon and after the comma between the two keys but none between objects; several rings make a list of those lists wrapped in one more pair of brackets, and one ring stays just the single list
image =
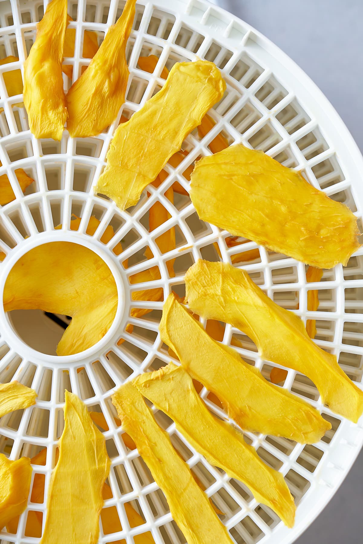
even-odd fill
[{"label": "mango strip with pointed upper-left tip, nearest right of the central ring", "polygon": [[311,444],[330,429],[312,406],[270,384],[234,349],[210,338],[172,294],[162,309],[159,330],[185,370],[217,395],[242,429]]}]

